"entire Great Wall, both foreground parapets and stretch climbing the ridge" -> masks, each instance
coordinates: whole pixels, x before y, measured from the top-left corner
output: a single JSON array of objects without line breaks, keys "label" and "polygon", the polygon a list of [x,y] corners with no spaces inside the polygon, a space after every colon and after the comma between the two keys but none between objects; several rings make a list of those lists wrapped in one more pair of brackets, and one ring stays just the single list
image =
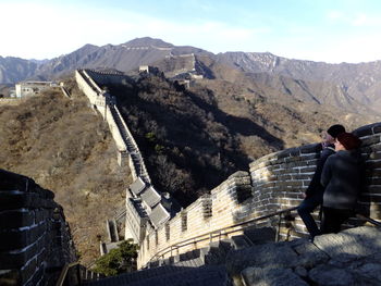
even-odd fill
[{"label": "entire Great Wall, both foreground parapets and stretch climbing the ridge", "polygon": [[[151,185],[142,153],[115,100],[99,87],[106,83],[120,83],[124,76],[78,70],[75,77],[91,107],[108,122],[118,147],[119,163],[128,164],[134,177],[134,183],[126,186],[125,238],[133,238],[140,246],[138,268],[239,234],[243,232],[242,224],[256,217],[263,217],[254,222],[257,228],[279,226],[276,236],[281,240],[306,235],[297,215],[293,215],[293,221],[285,221],[282,214],[271,217],[266,215],[293,208],[302,201],[303,191],[316,167],[318,144],[262,157],[251,162],[248,171],[232,174],[209,195],[173,214],[170,211],[171,199]],[[366,215],[381,220],[381,123],[362,126],[354,133],[362,140],[361,153],[366,162],[366,186],[359,206]],[[14,178],[13,174],[4,174]],[[20,285],[47,285],[48,281],[57,279],[57,271],[61,271],[64,264],[75,261],[70,252],[72,246],[67,224],[62,209],[53,202],[52,192],[23,176],[16,177],[16,183],[11,182],[0,189],[1,237],[7,238],[0,248],[0,281],[16,281]],[[364,222],[353,217],[349,224],[361,225]],[[341,237],[348,234],[351,232]],[[359,237],[359,234],[356,235]],[[373,240],[369,240],[367,246],[358,246],[359,249],[374,244],[374,237],[378,236],[377,232],[373,233]],[[345,241],[355,245],[356,241],[351,239]],[[320,244],[325,244],[320,249],[337,249],[334,250],[339,251],[337,254],[346,251],[340,248],[339,240],[336,248],[332,248],[333,240],[324,237],[320,240]],[[182,241],[187,243],[179,247]],[[379,243],[374,246],[376,250],[372,251],[378,251]]]}]

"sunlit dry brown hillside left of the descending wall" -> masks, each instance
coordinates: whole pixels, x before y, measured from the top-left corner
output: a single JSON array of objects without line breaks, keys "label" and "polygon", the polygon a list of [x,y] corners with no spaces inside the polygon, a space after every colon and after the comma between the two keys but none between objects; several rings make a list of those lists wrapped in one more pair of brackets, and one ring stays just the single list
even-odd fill
[{"label": "sunlit dry brown hillside left of the descending wall", "polygon": [[49,90],[0,107],[0,167],[54,191],[87,264],[99,256],[97,236],[106,238],[105,221],[123,207],[131,177],[116,163],[107,124],[67,84],[72,100]]}]

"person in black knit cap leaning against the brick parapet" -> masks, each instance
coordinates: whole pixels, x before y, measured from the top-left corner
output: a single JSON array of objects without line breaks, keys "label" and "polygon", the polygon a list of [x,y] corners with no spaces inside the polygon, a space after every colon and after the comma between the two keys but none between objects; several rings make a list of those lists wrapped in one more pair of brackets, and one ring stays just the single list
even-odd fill
[{"label": "person in black knit cap leaning against the brick parapet", "polygon": [[299,204],[297,212],[306,225],[310,239],[314,240],[314,237],[320,234],[320,231],[311,215],[311,212],[320,206],[323,201],[323,191],[324,188],[320,184],[321,171],[325,163],[325,160],[334,154],[334,141],[339,134],[345,133],[344,126],[340,124],[332,125],[323,133],[323,141],[321,144],[322,150],[320,152],[320,159],[318,160],[317,167],[312,179],[306,190],[305,199]]}]

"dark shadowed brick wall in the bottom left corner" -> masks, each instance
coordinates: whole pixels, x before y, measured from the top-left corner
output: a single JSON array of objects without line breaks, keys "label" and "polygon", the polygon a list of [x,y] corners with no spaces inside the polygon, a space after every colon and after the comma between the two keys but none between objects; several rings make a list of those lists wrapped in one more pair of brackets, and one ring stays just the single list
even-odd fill
[{"label": "dark shadowed brick wall in the bottom left corner", "polygon": [[33,179],[0,170],[0,285],[53,285],[75,261],[62,208]]}]

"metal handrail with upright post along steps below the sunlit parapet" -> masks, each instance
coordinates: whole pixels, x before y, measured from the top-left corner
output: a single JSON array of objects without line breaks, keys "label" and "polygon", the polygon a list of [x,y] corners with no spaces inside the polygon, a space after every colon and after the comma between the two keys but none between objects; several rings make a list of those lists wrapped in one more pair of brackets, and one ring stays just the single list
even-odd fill
[{"label": "metal handrail with upright post along steps below the sunlit parapet", "polygon": [[[212,232],[208,232],[205,233],[202,235],[198,235],[192,238],[187,238],[181,243],[171,245],[162,250],[159,250],[150,260],[149,262],[153,261],[155,259],[158,258],[163,258],[165,254],[171,253],[172,257],[172,252],[177,251],[180,248],[189,246],[189,245],[196,245],[197,243],[200,241],[205,241],[205,240],[209,240],[210,243],[213,241],[213,238],[218,238],[218,240],[221,240],[221,238],[225,238],[228,235],[233,234],[233,233],[237,233],[237,232],[242,232],[244,231],[245,227],[249,226],[253,223],[256,223],[258,221],[262,221],[262,220],[267,220],[270,219],[272,216],[276,216],[279,215],[279,221],[276,224],[276,235],[275,235],[275,240],[279,241],[280,238],[280,227],[281,227],[281,221],[282,221],[282,214],[290,214],[292,211],[295,211],[297,209],[297,207],[294,208],[290,208],[290,209],[285,209],[285,210],[281,210],[281,211],[276,211],[267,215],[262,215],[259,217],[255,217],[251,220],[248,220],[246,222],[242,222],[242,223],[236,223],[226,227],[222,227]],[[236,228],[236,229],[235,229]]]}]

